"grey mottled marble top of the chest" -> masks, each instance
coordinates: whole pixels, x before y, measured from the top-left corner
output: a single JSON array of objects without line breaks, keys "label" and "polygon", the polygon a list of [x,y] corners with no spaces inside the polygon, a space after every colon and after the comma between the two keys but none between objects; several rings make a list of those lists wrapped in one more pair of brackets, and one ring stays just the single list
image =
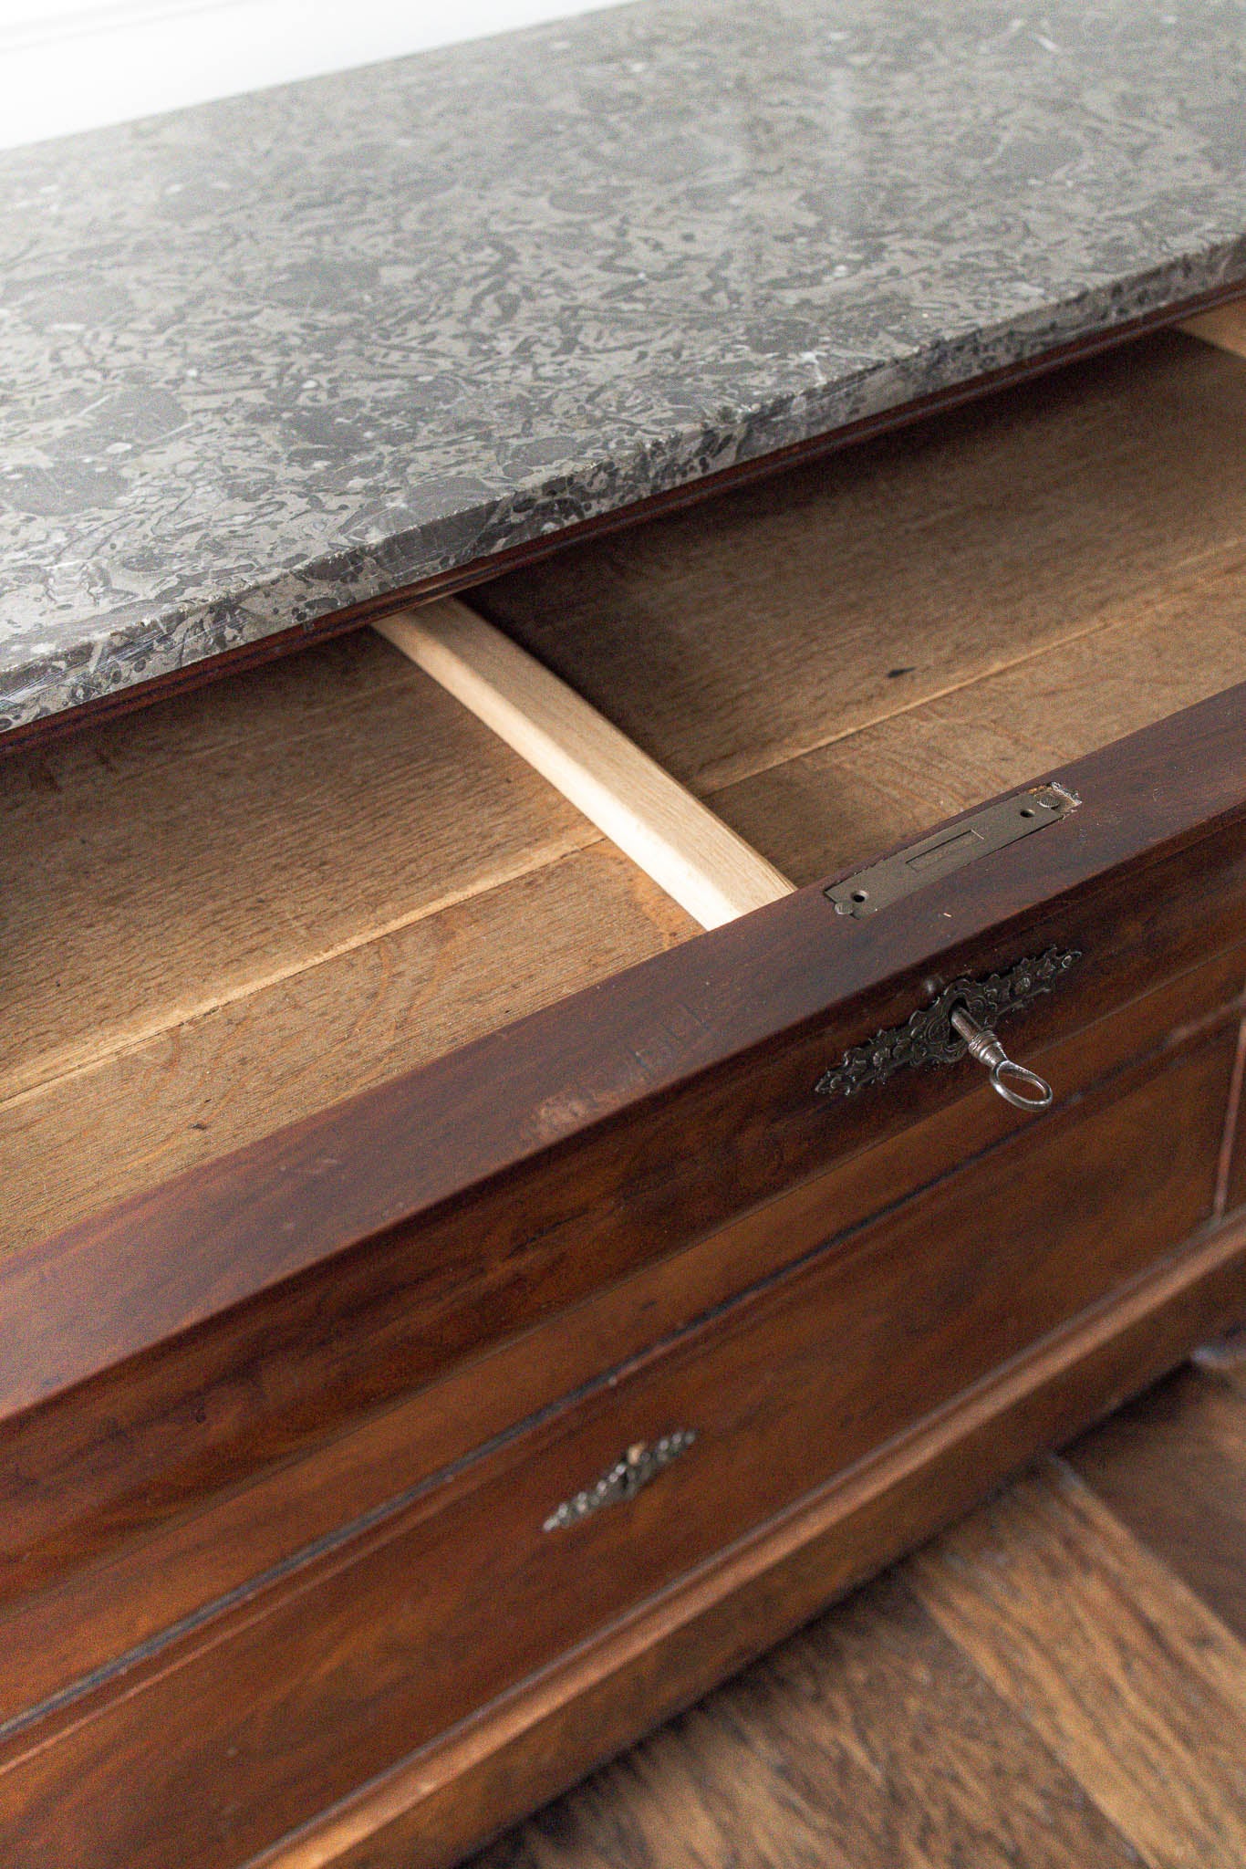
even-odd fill
[{"label": "grey mottled marble top of the chest", "polygon": [[1246,280],[1246,0],[643,0],[0,155],[0,725]]}]

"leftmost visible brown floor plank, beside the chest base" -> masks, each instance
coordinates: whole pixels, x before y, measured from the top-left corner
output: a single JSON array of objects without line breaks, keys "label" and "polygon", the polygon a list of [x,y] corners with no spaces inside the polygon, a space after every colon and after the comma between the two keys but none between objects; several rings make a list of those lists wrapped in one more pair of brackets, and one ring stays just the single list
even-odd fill
[{"label": "leftmost visible brown floor plank, beside the chest base", "polygon": [[474,1869],[1098,1869],[1136,1862],[884,1577]]}]

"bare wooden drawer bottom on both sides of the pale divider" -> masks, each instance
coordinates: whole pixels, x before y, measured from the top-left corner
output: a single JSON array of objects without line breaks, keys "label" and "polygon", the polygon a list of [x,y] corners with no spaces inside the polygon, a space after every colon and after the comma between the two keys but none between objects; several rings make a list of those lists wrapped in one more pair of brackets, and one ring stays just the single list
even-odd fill
[{"label": "bare wooden drawer bottom on both sides of the pale divider", "polygon": [[[473,592],[794,882],[1246,678],[1166,335]],[[697,933],[372,632],[0,761],[4,1245]]]}]

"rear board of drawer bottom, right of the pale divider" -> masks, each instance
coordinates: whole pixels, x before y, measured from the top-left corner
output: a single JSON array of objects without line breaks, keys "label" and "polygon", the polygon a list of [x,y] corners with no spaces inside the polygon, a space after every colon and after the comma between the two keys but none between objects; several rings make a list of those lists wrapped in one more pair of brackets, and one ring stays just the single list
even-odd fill
[{"label": "rear board of drawer bottom, right of the pale divider", "polygon": [[[1154,338],[566,551],[473,602],[717,806],[730,785],[986,675],[1027,669],[1059,692],[1072,645],[1121,628],[1083,662],[1111,693],[1125,637],[1197,596],[1188,626],[1205,587],[1229,581],[1240,613],[1244,424],[1239,359]],[[1231,604],[1212,622],[1222,643]],[[1212,688],[1242,678],[1239,663]],[[1151,705],[1151,720],[1166,710],[1134,693]],[[1042,693],[1011,725],[1039,770]],[[1097,744],[1136,725],[1108,714]]]}]

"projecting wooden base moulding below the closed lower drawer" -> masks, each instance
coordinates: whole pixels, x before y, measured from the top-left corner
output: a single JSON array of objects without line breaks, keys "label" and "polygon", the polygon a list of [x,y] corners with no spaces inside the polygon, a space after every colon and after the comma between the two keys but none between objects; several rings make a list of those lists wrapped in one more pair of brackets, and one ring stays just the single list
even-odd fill
[{"label": "projecting wooden base moulding below the closed lower drawer", "polygon": [[[947,1523],[1022,1465],[1027,1448],[1067,1439],[1078,1420],[1179,1361],[1199,1331],[1240,1316],[1244,1245],[1237,1230],[1173,1256],[1128,1297],[998,1372],[943,1419],[880,1450],[757,1540],[723,1553],[680,1592],[566,1658],[527,1693],[415,1753],[260,1863],[445,1869],[461,1839],[488,1835],[508,1802],[536,1804],[566,1787],[624,1734],[652,1725],[658,1710],[687,1705],[833,1591]],[[708,1869],[717,1869],[714,1856]],[[1216,1869],[1239,1863],[1231,1858]]]}]

